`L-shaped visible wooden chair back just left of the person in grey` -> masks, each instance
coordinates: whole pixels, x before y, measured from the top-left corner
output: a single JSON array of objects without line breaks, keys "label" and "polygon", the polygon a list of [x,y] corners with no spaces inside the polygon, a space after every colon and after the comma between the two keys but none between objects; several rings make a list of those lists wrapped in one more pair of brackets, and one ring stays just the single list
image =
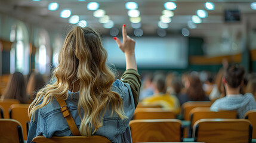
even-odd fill
[{"label": "L-shaped visible wooden chair back just left of the person in grey", "polygon": [[189,113],[193,108],[196,107],[211,107],[211,101],[189,101],[182,105],[184,120],[190,120]]}]

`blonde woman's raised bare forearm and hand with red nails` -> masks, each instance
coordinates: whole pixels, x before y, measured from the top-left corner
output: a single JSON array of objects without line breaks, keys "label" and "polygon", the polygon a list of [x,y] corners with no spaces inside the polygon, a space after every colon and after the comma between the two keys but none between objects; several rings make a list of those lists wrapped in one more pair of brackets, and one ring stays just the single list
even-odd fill
[{"label": "blonde woman's raised bare forearm and hand with red nails", "polygon": [[119,48],[125,53],[126,69],[134,69],[138,71],[134,54],[135,41],[127,35],[125,24],[122,27],[122,33],[123,43],[121,43],[121,41],[117,37],[114,37],[114,39],[118,44]]}]

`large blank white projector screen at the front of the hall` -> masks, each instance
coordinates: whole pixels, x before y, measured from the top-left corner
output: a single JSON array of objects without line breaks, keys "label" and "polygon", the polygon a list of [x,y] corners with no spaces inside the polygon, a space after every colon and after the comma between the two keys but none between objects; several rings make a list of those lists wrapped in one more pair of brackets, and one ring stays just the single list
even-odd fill
[{"label": "large blank white projector screen at the front of the hall", "polygon": [[[138,68],[185,69],[188,65],[187,38],[141,37],[134,40]],[[116,67],[125,67],[125,54],[118,48],[113,38],[104,37],[102,42],[107,50],[107,62]]]}]

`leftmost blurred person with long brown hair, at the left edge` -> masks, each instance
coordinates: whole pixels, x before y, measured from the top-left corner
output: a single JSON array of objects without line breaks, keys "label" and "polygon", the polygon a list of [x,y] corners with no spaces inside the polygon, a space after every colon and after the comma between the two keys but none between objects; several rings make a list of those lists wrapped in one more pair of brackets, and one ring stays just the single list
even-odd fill
[{"label": "leftmost blurred person with long brown hair, at the left edge", "polygon": [[16,99],[21,103],[27,103],[29,101],[22,73],[16,71],[10,75],[7,87],[5,88],[4,95],[1,99]]}]

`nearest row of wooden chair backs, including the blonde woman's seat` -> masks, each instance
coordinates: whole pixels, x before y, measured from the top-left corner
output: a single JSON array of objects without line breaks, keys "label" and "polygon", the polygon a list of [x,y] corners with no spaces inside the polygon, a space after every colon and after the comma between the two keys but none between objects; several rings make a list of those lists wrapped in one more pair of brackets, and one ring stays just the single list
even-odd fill
[{"label": "nearest row of wooden chair backs, including the blonde woman's seat", "polygon": [[[23,143],[22,126],[14,119],[0,119],[0,142]],[[132,142],[182,142],[183,126],[177,119],[132,120]],[[201,119],[193,126],[193,138],[199,142],[251,142],[252,125],[246,119]],[[33,142],[110,142],[102,136],[90,138],[82,136],[54,137],[51,139],[38,136]],[[98,139],[98,141],[97,141]]]}]

